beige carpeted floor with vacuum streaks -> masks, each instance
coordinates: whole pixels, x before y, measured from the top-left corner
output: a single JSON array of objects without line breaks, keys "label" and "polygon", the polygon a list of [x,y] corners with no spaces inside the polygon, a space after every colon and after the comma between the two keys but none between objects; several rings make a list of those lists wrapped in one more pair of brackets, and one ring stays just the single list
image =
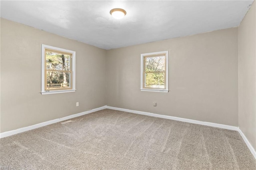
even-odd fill
[{"label": "beige carpeted floor with vacuum streaks", "polygon": [[105,109],[0,139],[0,167],[255,170],[236,131]]}]

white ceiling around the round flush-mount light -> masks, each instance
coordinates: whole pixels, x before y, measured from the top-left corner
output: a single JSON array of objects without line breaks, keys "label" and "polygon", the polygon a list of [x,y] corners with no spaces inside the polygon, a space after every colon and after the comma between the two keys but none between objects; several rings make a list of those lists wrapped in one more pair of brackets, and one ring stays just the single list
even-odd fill
[{"label": "white ceiling around the round flush-mount light", "polygon": [[[239,26],[253,0],[3,1],[1,17],[103,49]],[[116,20],[112,8],[126,16]]]}]

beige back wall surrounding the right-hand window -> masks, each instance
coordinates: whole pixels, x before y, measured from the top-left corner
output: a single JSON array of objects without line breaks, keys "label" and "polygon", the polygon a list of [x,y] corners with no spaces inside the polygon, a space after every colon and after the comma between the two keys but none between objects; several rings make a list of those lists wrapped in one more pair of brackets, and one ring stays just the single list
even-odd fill
[{"label": "beige back wall surrounding the right-hand window", "polygon": [[[230,28],[108,50],[107,105],[238,126],[237,34]],[[140,54],[164,50],[169,93],[140,91]]]}]

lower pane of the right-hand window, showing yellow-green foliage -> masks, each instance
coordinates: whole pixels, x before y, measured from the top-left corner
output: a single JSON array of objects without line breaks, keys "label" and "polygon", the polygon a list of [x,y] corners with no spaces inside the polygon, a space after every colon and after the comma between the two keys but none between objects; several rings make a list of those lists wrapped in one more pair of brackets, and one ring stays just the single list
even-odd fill
[{"label": "lower pane of the right-hand window, showing yellow-green foliage", "polygon": [[165,89],[164,73],[145,73],[145,87]]}]

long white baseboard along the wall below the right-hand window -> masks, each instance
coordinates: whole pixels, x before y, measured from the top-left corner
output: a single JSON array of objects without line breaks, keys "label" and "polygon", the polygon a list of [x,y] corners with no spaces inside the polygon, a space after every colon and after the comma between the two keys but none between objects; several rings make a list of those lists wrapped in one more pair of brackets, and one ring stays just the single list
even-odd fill
[{"label": "long white baseboard along the wall below the right-hand window", "polygon": [[111,107],[111,106],[107,106],[107,109],[112,109],[112,110],[117,110],[117,111],[124,111],[124,112],[129,112],[129,113],[136,113],[136,114],[147,115],[147,116],[152,116],[152,117],[160,117],[160,118],[164,118],[164,119],[171,119],[171,120],[174,120],[174,121],[194,123],[194,124],[198,124],[198,125],[206,125],[206,126],[209,126],[209,127],[218,127],[218,128],[224,128],[224,129],[236,130],[236,131],[238,130],[238,127],[229,126],[229,125],[222,125],[222,124],[218,124],[218,123],[195,121],[195,120],[192,120],[192,119],[184,119],[184,118],[180,118],[180,117],[173,117],[173,116],[167,116],[167,115],[158,115],[158,114],[155,114],[155,113],[134,111],[134,110],[122,109],[122,108]]}]

